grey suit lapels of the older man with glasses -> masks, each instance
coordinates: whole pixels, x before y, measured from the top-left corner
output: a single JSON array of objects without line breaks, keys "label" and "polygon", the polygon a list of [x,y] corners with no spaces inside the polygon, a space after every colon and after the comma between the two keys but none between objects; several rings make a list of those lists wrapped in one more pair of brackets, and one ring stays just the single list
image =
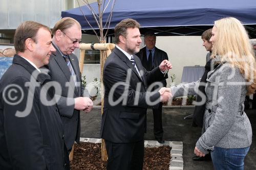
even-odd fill
[{"label": "grey suit lapels of the older man with glasses", "polygon": [[[65,75],[66,79],[67,79],[67,82],[70,83],[71,87],[74,89],[75,93],[78,95],[78,91],[77,91],[77,88],[75,86],[75,82],[74,82],[74,79],[71,78],[71,72],[69,70],[69,67],[66,63],[66,61],[63,59],[62,55],[59,53],[58,49],[56,48],[56,46],[53,44],[53,46],[55,47],[56,49],[56,52],[53,53],[54,55],[54,60],[56,61],[56,63],[59,65],[59,68],[62,70],[63,74]],[[72,60],[72,59],[71,59]],[[70,60],[70,62],[72,63],[72,61]],[[74,64],[72,64],[73,66]],[[73,67],[74,68],[74,67]],[[55,69],[55,68],[52,68],[52,69]],[[75,69],[74,69],[75,70]],[[75,72],[76,73],[76,72]],[[77,75],[76,75],[77,77]],[[79,79],[77,79],[79,80]]]}]

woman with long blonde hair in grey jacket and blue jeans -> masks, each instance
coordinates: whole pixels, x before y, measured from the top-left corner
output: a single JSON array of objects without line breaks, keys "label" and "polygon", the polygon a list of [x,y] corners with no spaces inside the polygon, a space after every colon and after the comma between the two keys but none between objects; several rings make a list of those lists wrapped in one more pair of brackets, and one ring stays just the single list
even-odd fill
[{"label": "woman with long blonde hair in grey jacket and blue jeans", "polygon": [[[215,169],[243,169],[252,138],[244,100],[256,89],[252,47],[242,23],[232,17],[215,21],[210,42],[215,69],[207,75],[204,125],[194,153],[210,152]],[[171,90],[174,97],[191,95],[198,85],[193,82]]]}]

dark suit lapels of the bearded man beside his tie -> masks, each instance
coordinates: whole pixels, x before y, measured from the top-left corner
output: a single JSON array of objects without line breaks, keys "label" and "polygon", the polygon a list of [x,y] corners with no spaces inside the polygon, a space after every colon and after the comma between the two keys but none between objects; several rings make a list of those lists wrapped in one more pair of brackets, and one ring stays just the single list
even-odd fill
[{"label": "dark suit lapels of the bearded man beside his tie", "polygon": [[[133,66],[132,62],[117,47],[114,48],[113,52],[116,53],[116,55],[120,58],[120,60],[123,61],[129,68],[131,68],[134,74],[141,80],[141,77],[138,74],[138,71],[136,70],[136,68]],[[136,55],[134,55],[134,60],[135,60],[136,66],[138,67],[138,70],[140,70],[141,69],[141,67],[139,66],[140,60]],[[142,82],[144,83],[143,78],[142,78]]]}]

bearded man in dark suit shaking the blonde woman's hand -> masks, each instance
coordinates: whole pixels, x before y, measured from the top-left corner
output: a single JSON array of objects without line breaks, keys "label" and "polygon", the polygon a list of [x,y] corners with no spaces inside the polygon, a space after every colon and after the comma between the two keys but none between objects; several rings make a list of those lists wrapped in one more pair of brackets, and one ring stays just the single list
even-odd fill
[{"label": "bearded man in dark suit shaking the blonde woman's hand", "polygon": [[146,71],[139,58],[141,43],[139,23],[124,19],[115,27],[116,47],[103,68],[104,111],[101,137],[108,153],[107,169],[142,169],[146,109],[159,107],[170,93],[161,88],[147,91],[147,85],[165,79],[164,71],[172,68],[167,60]]}]

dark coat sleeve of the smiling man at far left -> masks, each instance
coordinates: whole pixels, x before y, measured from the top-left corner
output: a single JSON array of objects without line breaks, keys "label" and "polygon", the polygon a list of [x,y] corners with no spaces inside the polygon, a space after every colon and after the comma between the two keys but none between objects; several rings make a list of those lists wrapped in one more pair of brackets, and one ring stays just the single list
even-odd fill
[{"label": "dark coat sleeve of the smiling man at far left", "polygon": [[[13,169],[46,169],[43,138],[40,129],[40,109],[38,106],[39,94],[34,96],[31,89],[25,87],[29,80],[17,78],[11,82],[20,87],[15,96],[21,101],[15,105],[3,100],[4,132],[7,148]],[[7,91],[8,92],[8,91]],[[7,92],[5,98],[8,98]],[[20,98],[23,92],[23,99]],[[16,111],[24,111],[32,104],[29,114],[17,117]]]}]

